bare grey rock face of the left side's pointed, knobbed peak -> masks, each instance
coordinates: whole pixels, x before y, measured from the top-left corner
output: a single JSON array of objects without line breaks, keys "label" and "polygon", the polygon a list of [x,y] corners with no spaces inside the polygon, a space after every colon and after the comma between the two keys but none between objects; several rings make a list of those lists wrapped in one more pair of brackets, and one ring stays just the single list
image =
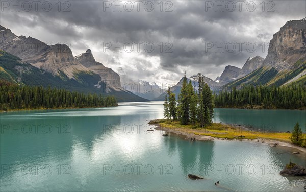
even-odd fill
[{"label": "bare grey rock face of the left side's pointed, knobbed peak", "polygon": [[120,85],[120,76],[111,68],[105,67],[102,63],[97,62],[91,53],[91,50],[86,50],[78,56],[75,56],[75,60],[79,61],[83,66],[98,74],[101,77],[101,81],[107,85],[118,89]]}]

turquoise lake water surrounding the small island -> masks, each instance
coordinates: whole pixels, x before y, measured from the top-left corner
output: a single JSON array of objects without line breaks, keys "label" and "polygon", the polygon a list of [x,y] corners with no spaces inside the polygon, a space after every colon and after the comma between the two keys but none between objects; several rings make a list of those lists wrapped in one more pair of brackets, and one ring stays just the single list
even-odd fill
[{"label": "turquoise lake water surrounding the small island", "polygon": [[[222,110],[216,121],[225,123],[230,111]],[[303,191],[305,177],[278,174],[290,159],[306,166],[292,149],[147,131],[149,119],[162,116],[162,102],[2,113],[0,191]]]}]

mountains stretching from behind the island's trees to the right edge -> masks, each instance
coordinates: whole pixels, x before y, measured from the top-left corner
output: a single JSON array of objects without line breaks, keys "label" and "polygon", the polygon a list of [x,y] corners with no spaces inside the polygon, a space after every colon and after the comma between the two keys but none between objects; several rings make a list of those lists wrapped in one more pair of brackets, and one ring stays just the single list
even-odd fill
[{"label": "mountains stretching from behind the island's trees to the right edge", "polygon": [[[198,74],[199,75],[199,74]],[[191,76],[197,86],[198,75]],[[249,57],[243,67],[228,65],[221,76],[214,81],[205,77],[205,82],[218,93],[222,89],[230,90],[233,86],[242,85],[276,85],[282,86],[297,81],[306,75],[306,18],[288,21],[273,35],[266,58],[260,56]],[[176,95],[180,93],[182,79],[171,91]],[[165,94],[155,98],[163,101]]]}]

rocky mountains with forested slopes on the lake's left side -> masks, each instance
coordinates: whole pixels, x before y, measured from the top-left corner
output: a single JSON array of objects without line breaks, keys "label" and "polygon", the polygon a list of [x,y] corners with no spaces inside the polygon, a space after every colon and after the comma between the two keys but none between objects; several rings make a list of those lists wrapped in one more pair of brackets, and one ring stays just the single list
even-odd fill
[{"label": "rocky mountains with forested slopes on the lake's left side", "polygon": [[[71,85],[69,90],[79,90],[78,87],[75,87],[78,85],[87,92],[114,95],[120,102],[147,101],[130,91],[124,90],[120,86],[119,75],[112,69],[96,62],[90,50],[74,57],[67,45],[47,45],[32,37],[17,36],[10,29],[6,29],[3,26],[0,26],[0,49],[17,56],[23,63],[28,63],[39,69],[35,70],[31,67],[31,73],[32,71],[35,71],[33,72],[35,74],[41,73],[41,75],[48,73],[53,76],[47,75],[45,77],[49,78],[50,81],[57,79],[63,81],[61,83],[67,82]],[[16,73],[15,75],[22,74]],[[24,81],[22,77],[18,78],[20,82]],[[31,79],[31,77],[29,78]],[[25,81],[24,83],[28,85],[36,85],[37,83],[42,85],[39,81]],[[46,86],[45,82],[43,86]],[[60,88],[61,84],[58,82],[53,86]]]}]

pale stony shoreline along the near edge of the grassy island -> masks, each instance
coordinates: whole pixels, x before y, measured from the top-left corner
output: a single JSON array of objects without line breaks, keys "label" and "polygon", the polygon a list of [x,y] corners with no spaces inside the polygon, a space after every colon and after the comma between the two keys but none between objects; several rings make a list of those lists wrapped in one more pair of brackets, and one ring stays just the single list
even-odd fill
[{"label": "pale stony shoreline along the near edge of the grassy island", "polygon": [[[212,136],[205,136],[205,135],[196,135],[194,133],[189,133],[186,132],[180,128],[166,128],[160,126],[158,123],[150,124],[154,125],[156,130],[160,131],[165,131],[168,133],[174,133],[176,136],[182,137],[184,139],[195,139],[195,141],[208,141],[208,140],[227,140],[227,141],[247,141],[247,142],[260,142],[264,145],[269,145],[269,146],[282,146],[282,147],[288,147],[291,149],[295,149],[295,152],[300,152],[300,154],[306,153],[306,148],[300,147],[300,146],[295,146],[291,143],[284,142],[284,141],[278,141],[278,140],[273,140],[273,139],[265,139],[265,138],[257,138],[257,139],[224,139],[224,138],[217,138],[217,137],[212,137]],[[231,124],[224,124],[224,125],[231,125]],[[276,144],[276,145],[275,145]]]}]

